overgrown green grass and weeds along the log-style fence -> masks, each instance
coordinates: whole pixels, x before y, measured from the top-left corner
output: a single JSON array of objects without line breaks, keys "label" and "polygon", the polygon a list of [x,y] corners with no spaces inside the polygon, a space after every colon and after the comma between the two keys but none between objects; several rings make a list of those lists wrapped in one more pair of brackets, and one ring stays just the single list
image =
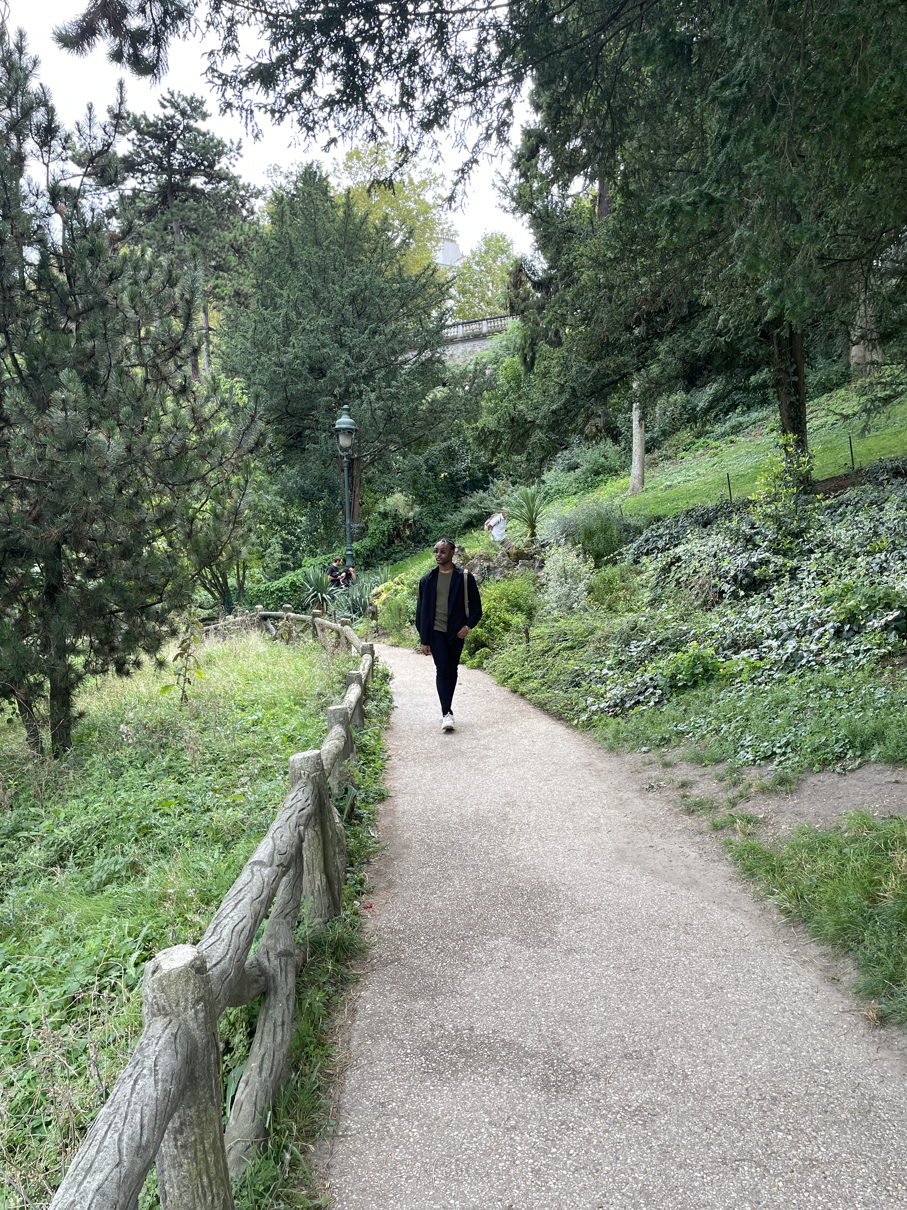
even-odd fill
[{"label": "overgrown green grass and weeds along the log-style fence", "polygon": [[[141,1030],[145,961],[200,939],[287,793],[289,755],[323,739],[324,707],[342,693],[351,662],[253,635],[204,649],[204,679],[184,709],[160,695],[151,668],[97,684],[65,761],[35,760],[18,727],[6,728],[0,1204],[50,1200]],[[387,697],[379,685],[363,737],[353,880],[374,843]],[[278,1187],[305,1187],[302,1140],[327,1078],[324,1020],[358,945],[353,901],[351,883],[351,910],[300,980],[296,1074],[275,1114],[279,1156],[272,1147],[249,1174],[238,1192],[247,1210],[273,1204]],[[227,1093],[255,1016],[253,1004],[221,1021]],[[144,1200],[156,1202],[152,1186]]]}]

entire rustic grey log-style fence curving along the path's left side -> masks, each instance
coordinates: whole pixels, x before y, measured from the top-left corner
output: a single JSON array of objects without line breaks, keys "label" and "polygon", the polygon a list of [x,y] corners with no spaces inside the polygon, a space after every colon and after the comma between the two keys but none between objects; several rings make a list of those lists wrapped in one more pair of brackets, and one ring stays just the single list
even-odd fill
[{"label": "entire rustic grey log-style fence curving along the path's left side", "polygon": [[[162,950],[145,966],[144,1031],[51,1210],[135,1210],[152,1164],[163,1210],[233,1210],[230,1181],[267,1140],[271,1105],[288,1076],[296,973],[308,960],[308,938],[341,908],[346,837],[331,790],[356,751],[352,728],[363,724],[375,659],[371,644],[349,626],[289,607],[215,623],[206,635],[223,634],[230,622],[265,628],[273,618],[304,623],[325,646],[353,649],[359,668],[347,674],[342,703],[328,709],[322,747],[290,756],[290,793],[201,941]],[[293,929],[304,905],[307,940],[300,945]],[[218,1018],[261,995],[224,1130]]]}]

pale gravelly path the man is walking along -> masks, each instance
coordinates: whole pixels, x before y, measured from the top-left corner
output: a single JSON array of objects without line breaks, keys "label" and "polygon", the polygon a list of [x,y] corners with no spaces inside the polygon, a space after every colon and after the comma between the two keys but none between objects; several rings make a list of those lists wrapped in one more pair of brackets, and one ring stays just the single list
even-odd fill
[{"label": "pale gravelly path the man is walking along", "polygon": [[439,731],[385,650],[387,852],[341,1210],[907,1206],[902,1035],[608,756],[479,672]]}]

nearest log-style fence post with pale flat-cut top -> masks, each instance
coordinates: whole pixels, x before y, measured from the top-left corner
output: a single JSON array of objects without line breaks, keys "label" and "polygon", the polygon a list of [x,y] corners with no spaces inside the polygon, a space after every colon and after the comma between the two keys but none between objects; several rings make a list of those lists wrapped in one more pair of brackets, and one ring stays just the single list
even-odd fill
[{"label": "nearest log-style fence post with pale flat-cut top", "polygon": [[193,945],[162,950],[145,967],[145,1024],[179,1020],[192,1038],[183,1096],[157,1152],[161,1210],[233,1210],[220,1093],[220,1041],[208,966]]}]

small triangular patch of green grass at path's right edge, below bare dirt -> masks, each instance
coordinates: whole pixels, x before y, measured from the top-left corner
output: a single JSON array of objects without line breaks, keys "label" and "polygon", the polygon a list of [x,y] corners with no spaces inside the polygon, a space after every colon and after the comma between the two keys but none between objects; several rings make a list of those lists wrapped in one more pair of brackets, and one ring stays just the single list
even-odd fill
[{"label": "small triangular patch of green grass at path's right edge, below bare dirt", "polygon": [[786,916],[850,951],[867,1015],[907,1024],[907,819],[855,811],[831,829],[792,840],[728,845],[736,865]]}]

